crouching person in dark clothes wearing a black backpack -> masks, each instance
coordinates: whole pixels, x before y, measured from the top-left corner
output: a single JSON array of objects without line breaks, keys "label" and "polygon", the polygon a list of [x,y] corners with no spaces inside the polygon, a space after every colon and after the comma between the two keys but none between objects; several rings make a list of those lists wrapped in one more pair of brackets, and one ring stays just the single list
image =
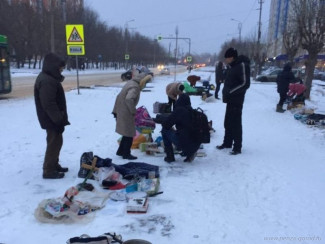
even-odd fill
[{"label": "crouching person in dark clothes wearing a black backpack", "polygon": [[173,144],[186,156],[184,162],[192,162],[200,147],[201,143],[196,141],[191,133],[191,110],[190,97],[184,93],[180,94],[174,111],[162,122],[161,135],[166,152],[164,160],[168,163],[175,161]]}]

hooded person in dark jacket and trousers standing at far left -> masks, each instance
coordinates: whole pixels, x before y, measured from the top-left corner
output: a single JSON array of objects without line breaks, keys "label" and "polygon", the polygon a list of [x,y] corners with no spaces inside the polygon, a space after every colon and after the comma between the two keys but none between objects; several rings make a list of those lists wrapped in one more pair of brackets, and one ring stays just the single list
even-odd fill
[{"label": "hooded person in dark jacket and trousers standing at far left", "polygon": [[34,85],[36,112],[42,129],[46,130],[46,152],[43,163],[44,179],[64,177],[68,168],[59,164],[59,155],[63,145],[64,127],[69,125],[65,94],[61,75],[65,62],[59,56],[49,53],[44,58],[42,72]]}]

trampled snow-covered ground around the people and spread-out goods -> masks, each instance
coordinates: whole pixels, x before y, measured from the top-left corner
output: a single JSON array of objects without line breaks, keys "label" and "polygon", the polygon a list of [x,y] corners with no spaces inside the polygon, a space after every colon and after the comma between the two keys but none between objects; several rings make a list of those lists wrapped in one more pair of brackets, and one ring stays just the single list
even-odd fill
[{"label": "trampled snow-covered ground around the people and spread-out goods", "polygon": [[[194,70],[202,79],[214,68]],[[15,75],[15,74],[13,74]],[[177,75],[186,80],[188,73]],[[173,76],[156,76],[142,92],[139,106],[152,116],[153,103],[166,102],[165,86]],[[314,81],[307,106],[325,113],[324,82]],[[260,244],[325,242],[325,132],[295,120],[291,112],[276,113],[275,83],[252,81],[243,109],[242,154],[216,150],[222,143],[225,104],[206,103],[191,96],[193,107],[204,109],[216,132],[204,145],[206,157],[192,163],[167,164],[162,157],[139,150],[137,162],[160,167],[163,194],[149,199],[146,214],[126,213],[124,202],[108,200],[87,223],[45,224],[34,217],[38,204],[64,195],[77,177],[83,152],[93,151],[115,164],[119,135],[111,115],[119,87],[95,87],[66,93],[71,126],[64,132],[61,164],[69,172],[61,180],[42,179],[45,131],[38,124],[33,97],[0,99],[0,243],[65,243],[69,238],[116,232],[128,239],[154,244]],[[153,138],[160,135],[157,125]],[[91,182],[99,191],[97,181]]]}]

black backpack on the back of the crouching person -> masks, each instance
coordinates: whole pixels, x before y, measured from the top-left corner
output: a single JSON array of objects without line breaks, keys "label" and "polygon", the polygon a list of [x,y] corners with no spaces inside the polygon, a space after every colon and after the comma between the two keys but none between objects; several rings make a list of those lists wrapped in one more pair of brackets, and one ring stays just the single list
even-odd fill
[{"label": "black backpack on the back of the crouching person", "polygon": [[191,110],[192,135],[200,143],[210,143],[210,126],[208,117],[201,108]]}]

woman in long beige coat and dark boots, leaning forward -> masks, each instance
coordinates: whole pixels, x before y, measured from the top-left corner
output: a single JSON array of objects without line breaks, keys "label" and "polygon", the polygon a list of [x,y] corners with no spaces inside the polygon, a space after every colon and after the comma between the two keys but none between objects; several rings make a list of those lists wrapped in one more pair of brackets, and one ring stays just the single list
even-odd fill
[{"label": "woman in long beige coat and dark boots, leaning forward", "polygon": [[115,131],[122,135],[116,155],[122,156],[123,159],[137,159],[137,157],[131,155],[131,146],[135,136],[135,113],[140,99],[140,81],[144,77],[145,73],[135,69],[132,72],[132,79],[124,85],[115,100],[112,112],[116,118]]}]

